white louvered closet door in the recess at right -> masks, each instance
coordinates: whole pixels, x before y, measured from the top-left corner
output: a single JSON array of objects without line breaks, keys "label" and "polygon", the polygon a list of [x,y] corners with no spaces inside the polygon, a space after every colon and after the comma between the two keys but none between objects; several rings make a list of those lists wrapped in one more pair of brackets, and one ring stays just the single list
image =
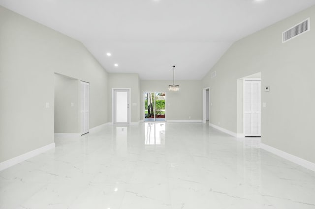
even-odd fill
[{"label": "white louvered closet door in the recess at right", "polygon": [[261,136],[260,80],[244,80],[244,133]]}]

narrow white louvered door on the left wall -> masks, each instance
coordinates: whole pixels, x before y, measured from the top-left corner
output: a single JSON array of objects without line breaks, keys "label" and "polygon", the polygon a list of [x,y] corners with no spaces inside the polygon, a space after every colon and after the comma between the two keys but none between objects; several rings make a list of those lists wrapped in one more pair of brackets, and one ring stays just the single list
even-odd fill
[{"label": "narrow white louvered door on the left wall", "polygon": [[81,135],[89,132],[90,83],[81,81]]}]

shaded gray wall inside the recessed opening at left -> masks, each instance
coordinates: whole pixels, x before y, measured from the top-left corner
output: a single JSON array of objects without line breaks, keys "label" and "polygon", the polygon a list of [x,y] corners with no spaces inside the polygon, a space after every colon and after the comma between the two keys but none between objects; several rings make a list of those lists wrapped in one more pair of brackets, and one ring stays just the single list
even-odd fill
[{"label": "shaded gray wall inside the recessed opening at left", "polygon": [[55,74],[55,133],[80,133],[79,107],[79,80]]}]

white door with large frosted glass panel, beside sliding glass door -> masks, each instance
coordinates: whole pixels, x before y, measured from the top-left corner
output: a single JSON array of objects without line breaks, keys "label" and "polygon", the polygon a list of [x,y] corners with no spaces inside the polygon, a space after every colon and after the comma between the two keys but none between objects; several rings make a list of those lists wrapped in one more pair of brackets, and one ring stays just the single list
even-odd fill
[{"label": "white door with large frosted glass panel, beside sliding glass door", "polygon": [[129,90],[114,90],[114,123],[129,123]]}]

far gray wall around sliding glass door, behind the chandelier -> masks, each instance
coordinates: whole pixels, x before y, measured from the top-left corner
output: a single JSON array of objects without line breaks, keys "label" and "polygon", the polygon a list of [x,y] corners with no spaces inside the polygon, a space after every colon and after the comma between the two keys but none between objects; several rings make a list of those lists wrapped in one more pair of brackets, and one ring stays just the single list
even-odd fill
[{"label": "far gray wall around sliding glass door, behind the chandelier", "polygon": [[168,90],[173,80],[141,80],[140,81],[140,119],[144,120],[144,92],[166,92],[166,120],[202,120],[202,94],[200,80],[178,80],[178,92]]}]

